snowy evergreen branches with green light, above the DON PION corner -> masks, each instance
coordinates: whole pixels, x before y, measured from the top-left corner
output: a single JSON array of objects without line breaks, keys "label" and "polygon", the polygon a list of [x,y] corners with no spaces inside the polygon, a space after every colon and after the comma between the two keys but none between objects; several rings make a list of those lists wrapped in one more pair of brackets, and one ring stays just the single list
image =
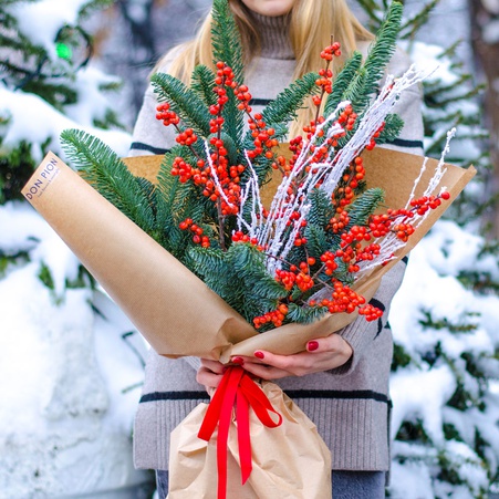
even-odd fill
[{"label": "snowy evergreen branches with green light, above the DON PION corner", "polygon": [[[121,127],[105,96],[119,82],[90,64],[92,37],[82,27],[93,11],[110,3],[82,0],[74,11],[60,12],[35,0],[0,4],[0,202],[19,198],[46,150],[60,150],[59,134],[70,121],[95,133]],[[54,17],[50,25],[44,22],[46,9]],[[32,114],[21,112],[24,103]],[[126,134],[104,136],[126,152]]]}]

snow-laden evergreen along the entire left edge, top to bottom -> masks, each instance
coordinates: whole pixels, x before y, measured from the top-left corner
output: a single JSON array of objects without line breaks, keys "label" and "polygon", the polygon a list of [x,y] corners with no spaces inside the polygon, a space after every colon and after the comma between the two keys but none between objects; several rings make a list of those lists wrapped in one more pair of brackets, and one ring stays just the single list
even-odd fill
[{"label": "snow-laden evergreen along the entire left edge, top to bottom", "polygon": [[[132,419],[143,378],[133,326],[20,198],[42,156],[80,127],[126,155],[82,20],[105,1],[0,4],[0,496],[135,487]],[[114,97],[116,100],[116,97]],[[75,228],[77,229],[77,228]],[[138,496],[137,496],[138,497]]]}]

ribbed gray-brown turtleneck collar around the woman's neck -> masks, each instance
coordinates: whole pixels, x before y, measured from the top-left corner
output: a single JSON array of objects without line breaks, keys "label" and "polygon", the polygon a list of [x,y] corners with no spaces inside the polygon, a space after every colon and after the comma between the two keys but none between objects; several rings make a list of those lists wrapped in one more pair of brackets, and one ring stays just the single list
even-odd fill
[{"label": "ribbed gray-brown turtleneck collar around the woman's neck", "polygon": [[294,59],[294,52],[289,39],[289,15],[261,15],[250,11],[250,15],[260,34],[262,58],[269,59]]}]

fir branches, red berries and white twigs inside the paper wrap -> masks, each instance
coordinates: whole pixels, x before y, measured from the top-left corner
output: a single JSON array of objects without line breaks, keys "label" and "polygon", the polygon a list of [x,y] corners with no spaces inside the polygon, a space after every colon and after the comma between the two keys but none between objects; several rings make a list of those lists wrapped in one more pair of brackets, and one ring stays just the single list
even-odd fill
[{"label": "fir branches, red berries and white twigs inside the paper wrap", "polygon": [[[312,323],[326,313],[378,319],[382,311],[355,287],[394,258],[428,209],[449,198],[446,191],[430,195],[430,185],[409,206],[383,209],[384,190],[366,188],[362,153],[397,136],[403,123],[389,112],[422,77],[409,71],[388,79],[372,101],[395,49],[401,6],[393,4],[363,66],[354,54],[333,85],[331,61],[341,54],[334,42],[321,53],[319,73],[294,82],[262,113],[252,113],[242,83],[242,54],[226,2],[214,7],[216,72],[196,67],[190,89],[168,74],[153,76],[156,117],[177,132],[157,186],[116,175],[121,162],[81,132],[62,135],[69,157],[258,331]],[[310,95],[315,118],[283,150],[287,124]],[[264,206],[262,186],[277,176],[277,191]]]}]

